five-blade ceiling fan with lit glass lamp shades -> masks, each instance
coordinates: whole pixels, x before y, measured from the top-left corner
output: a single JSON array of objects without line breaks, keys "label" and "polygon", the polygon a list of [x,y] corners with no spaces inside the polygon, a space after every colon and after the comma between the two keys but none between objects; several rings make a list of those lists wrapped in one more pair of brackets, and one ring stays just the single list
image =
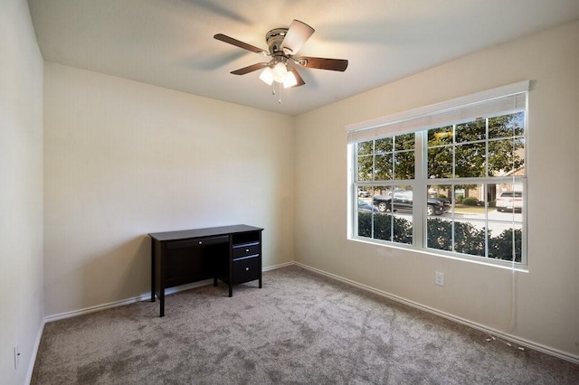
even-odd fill
[{"label": "five-blade ceiling fan with lit glass lamp shades", "polygon": [[302,23],[299,20],[291,22],[289,28],[272,29],[265,34],[265,42],[268,44],[269,52],[261,50],[261,48],[252,44],[240,42],[223,33],[217,33],[214,38],[244,50],[271,57],[269,62],[256,63],[239,70],[233,70],[231,72],[233,75],[245,75],[246,73],[263,69],[260,79],[265,83],[271,86],[276,81],[283,84],[284,88],[289,88],[306,84],[299,76],[299,72],[294,65],[319,70],[345,71],[347,68],[347,61],[344,59],[313,58],[309,56],[294,58],[294,55],[308,41],[314,31],[307,23]]}]

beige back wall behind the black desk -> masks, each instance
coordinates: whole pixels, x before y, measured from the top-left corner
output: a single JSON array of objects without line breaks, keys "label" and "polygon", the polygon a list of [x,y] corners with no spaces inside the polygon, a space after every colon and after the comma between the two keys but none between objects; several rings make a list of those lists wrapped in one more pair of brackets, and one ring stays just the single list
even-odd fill
[{"label": "beige back wall behind the black desk", "polygon": [[148,232],[263,227],[293,260],[293,117],[45,63],[45,314],[150,292]]}]

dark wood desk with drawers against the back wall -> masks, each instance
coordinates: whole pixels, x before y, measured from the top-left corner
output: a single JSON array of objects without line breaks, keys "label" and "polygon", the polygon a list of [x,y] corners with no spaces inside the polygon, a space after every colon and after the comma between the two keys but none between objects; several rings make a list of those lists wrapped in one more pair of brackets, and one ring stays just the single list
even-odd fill
[{"label": "dark wood desk with drawers against the back wall", "polygon": [[149,233],[151,237],[151,302],[161,302],[165,289],[214,278],[229,286],[260,280],[261,231],[247,225]]}]

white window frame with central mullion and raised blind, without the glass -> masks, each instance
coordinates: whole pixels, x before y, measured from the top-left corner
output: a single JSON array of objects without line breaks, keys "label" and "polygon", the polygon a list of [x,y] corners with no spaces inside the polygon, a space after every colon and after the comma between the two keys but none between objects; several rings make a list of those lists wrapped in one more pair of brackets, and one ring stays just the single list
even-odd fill
[{"label": "white window frame with central mullion and raised blind, without the glass", "polygon": [[[403,111],[401,113],[388,115],[384,117],[377,117],[375,119],[365,120],[363,122],[355,123],[346,126],[347,132],[347,164],[348,164],[348,215],[347,215],[347,239],[358,240],[368,243],[380,244],[386,247],[414,249],[419,252],[428,254],[441,255],[444,257],[459,258],[462,260],[471,260],[474,262],[489,264],[498,267],[527,269],[527,213],[526,207],[523,208],[523,246],[521,262],[509,262],[494,258],[481,258],[476,256],[467,256],[456,252],[448,252],[437,249],[427,248],[427,234],[424,229],[426,221],[423,212],[425,210],[425,200],[414,200],[416,202],[413,207],[413,244],[407,245],[403,243],[395,243],[391,241],[383,241],[379,239],[370,239],[366,237],[358,237],[357,221],[356,221],[356,206],[357,206],[357,184],[356,182],[356,144],[381,137],[395,136],[407,134],[411,132],[425,131],[429,128],[443,127],[467,121],[469,119],[476,119],[478,117],[485,117],[489,115],[507,115],[514,112],[524,110],[525,113],[525,152],[527,153],[527,130],[528,130],[528,91],[530,89],[531,81],[524,80],[514,84],[498,87],[496,89],[488,89],[468,96],[460,97],[443,101],[441,103],[432,104],[422,108],[414,108],[412,110]],[[426,146],[423,141],[423,135],[417,135],[415,163],[417,164],[415,179],[404,181],[405,184],[413,185],[413,191],[416,196],[426,197],[426,186],[429,184],[424,170],[426,164],[424,154]],[[525,154],[526,171],[527,168],[527,154]],[[528,173],[526,172],[526,175]],[[484,181],[484,178],[482,178]],[[514,178],[513,178],[514,181]],[[525,190],[527,190],[527,176],[517,177],[517,183],[523,181]],[[437,181],[443,183],[443,181]],[[375,183],[379,184],[379,183]],[[527,195],[527,192],[526,192]],[[525,202],[527,206],[527,200]],[[422,210],[424,209],[424,210]],[[418,215],[417,215],[418,214]]]}]

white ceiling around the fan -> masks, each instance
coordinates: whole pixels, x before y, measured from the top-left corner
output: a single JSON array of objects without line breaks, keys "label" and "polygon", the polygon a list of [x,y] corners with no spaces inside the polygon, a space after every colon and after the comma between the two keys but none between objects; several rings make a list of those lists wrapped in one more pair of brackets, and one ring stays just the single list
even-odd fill
[{"label": "white ceiling around the fan", "polygon": [[[45,61],[298,115],[470,52],[579,19],[579,0],[29,0]],[[265,33],[293,19],[316,32],[296,56],[349,60],[300,68],[276,97],[255,71]],[[264,60],[265,59],[265,60]],[[281,104],[278,97],[281,96]]]}]

